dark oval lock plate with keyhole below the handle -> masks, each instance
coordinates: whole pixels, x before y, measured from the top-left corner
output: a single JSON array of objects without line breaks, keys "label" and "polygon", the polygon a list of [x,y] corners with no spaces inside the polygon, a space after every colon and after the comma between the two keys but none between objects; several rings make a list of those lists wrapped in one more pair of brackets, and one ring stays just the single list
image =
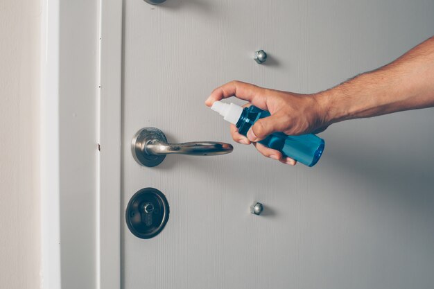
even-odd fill
[{"label": "dark oval lock plate with keyhole below the handle", "polygon": [[128,202],[125,221],[135,236],[149,239],[157,236],[168,221],[166,196],[154,188],[141,189]]}]

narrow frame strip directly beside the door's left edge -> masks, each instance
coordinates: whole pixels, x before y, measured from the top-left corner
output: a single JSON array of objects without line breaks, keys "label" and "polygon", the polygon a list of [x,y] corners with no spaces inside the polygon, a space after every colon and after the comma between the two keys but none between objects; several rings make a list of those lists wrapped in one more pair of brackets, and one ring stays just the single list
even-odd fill
[{"label": "narrow frame strip directly beside the door's left edge", "polygon": [[123,1],[100,1],[98,288],[119,289]]}]

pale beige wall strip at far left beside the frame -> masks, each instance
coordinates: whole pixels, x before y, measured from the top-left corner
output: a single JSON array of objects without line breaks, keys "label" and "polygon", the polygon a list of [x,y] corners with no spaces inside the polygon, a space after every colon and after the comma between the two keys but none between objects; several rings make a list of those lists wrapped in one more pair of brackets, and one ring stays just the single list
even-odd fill
[{"label": "pale beige wall strip at far left beside the frame", "polygon": [[0,2],[0,288],[40,288],[40,1]]}]

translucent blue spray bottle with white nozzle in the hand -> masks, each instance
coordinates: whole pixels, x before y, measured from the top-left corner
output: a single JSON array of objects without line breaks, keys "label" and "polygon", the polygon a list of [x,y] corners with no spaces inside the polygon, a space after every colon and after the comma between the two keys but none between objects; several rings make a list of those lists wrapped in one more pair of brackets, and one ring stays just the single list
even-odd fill
[{"label": "translucent blue spray bottle with white nozzle in the hand", "polygon": [[[241,107],[234,103],[227,104],[216,101],[211,110],[218,112],[224,117],[225,121],[233,123],[238,128],[240,134],[246,135],[250,127],[258,120],[270,116],[270,112],[261,110],[258,107]],[[295,159],[306,166],[314,166],[324,150],[324,139],[315,134],[302,134],[298,136],[288,136],[283,132],[270,134],[266,139],[259,143],[279,150],[284,156]]]}]

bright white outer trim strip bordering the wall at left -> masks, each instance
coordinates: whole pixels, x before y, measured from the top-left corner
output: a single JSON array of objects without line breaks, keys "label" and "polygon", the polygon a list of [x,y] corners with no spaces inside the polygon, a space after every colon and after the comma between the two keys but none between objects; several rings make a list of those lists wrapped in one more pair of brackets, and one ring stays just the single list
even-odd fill
[{"label": "bright white outer trim strip bordering the wall at left", "polygon": [[61,287],[59,15],[59,1],[42,1],[40,55],[41,288]]}]

